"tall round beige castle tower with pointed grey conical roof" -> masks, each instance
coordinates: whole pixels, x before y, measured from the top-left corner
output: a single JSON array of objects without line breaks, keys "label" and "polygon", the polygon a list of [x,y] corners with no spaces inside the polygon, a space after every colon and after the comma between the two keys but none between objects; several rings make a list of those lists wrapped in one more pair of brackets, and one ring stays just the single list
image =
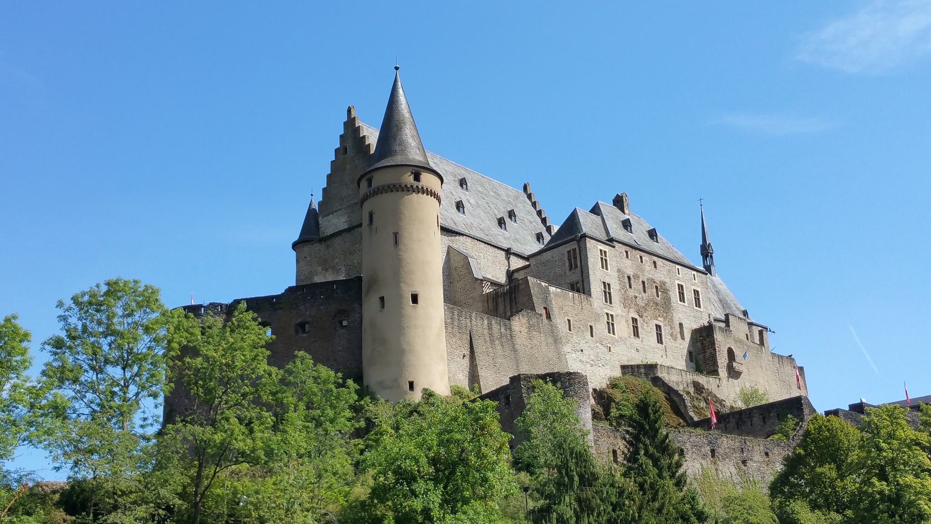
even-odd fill
[{"label": "tall round beige castle tower with pointed grey conical roof", "polygon": [[358,178],[362,207],[362,376],[389,401],[450,393],[443,321],[439,200],[401,87],[398,67],[369,170]]}]

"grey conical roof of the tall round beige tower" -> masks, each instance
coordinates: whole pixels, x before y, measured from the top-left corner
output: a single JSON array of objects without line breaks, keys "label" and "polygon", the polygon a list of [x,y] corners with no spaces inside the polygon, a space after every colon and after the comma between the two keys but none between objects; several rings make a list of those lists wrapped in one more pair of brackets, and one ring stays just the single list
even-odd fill
[{"label": "grey conical roof of the tall round beige tower", "polygon": [[385,107],[385,118],[378,131],[378,142],[371,155],[369,170],[385,166],[413,166],[432,170],[420,141],[420,133],[417,132],[417,124],[413,122],[411,106],[404,96],[398,69],[396,65],[395,84],[391,87],[391,96]]}]

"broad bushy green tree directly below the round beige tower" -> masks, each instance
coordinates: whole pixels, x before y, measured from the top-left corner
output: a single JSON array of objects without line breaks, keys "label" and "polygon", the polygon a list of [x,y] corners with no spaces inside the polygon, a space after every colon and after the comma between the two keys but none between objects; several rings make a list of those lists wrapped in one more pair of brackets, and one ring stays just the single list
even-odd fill
[{"label": "broad bushy green tree directly below the round beige tower", "polygon": [[367,437],[364,522],[495,522],[496,501],[513,490],[513,472],[492,401],[464,401],[425,390],[403,401]]}]

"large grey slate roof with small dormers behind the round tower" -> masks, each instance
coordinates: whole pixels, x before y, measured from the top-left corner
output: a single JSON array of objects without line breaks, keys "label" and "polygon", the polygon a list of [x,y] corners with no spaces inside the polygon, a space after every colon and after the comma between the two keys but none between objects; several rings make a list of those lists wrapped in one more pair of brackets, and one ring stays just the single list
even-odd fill
[{"label": "large grey slate roof with small dormers behind the round tower", "polygon": [[[366,124],[361,124],[361,128],[371,142],[377,143],[378,130]],[[515,255],[523,257],[543,247],[537,241],[537,233],[543,234],[544,242],[549,240],[550,235],[540,220],[540,214],[523,191],[429,151],[426,158],[444,180],[442,204],[439,206],[439,221],[443,228],[502,249],[511,248]],[[460,186],[462,178],[466,179],[467,190]],[[456,211],[459,200],[466,206],[466,214]],[[517,215],[517,222],[510,220],[508,212],[511,210]],[[505,218],[506,229],[498,227],[500,217]]]}]

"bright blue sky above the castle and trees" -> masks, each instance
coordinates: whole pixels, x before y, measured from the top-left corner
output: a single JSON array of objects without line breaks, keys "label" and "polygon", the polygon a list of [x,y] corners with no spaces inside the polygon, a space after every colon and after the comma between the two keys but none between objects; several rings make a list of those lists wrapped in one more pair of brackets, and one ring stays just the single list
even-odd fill
[{"label": "bright blue sky above the castle and trees", "polygon": [[319,4],[0,5],[0,315],[37,361],[107,278],[170,306],[292,284],[345,108],[378,125],[397,57],[425,146],[555,221],[627,191],[698,262],[704,198],[818,409],[931,393],[928,1]]}]

